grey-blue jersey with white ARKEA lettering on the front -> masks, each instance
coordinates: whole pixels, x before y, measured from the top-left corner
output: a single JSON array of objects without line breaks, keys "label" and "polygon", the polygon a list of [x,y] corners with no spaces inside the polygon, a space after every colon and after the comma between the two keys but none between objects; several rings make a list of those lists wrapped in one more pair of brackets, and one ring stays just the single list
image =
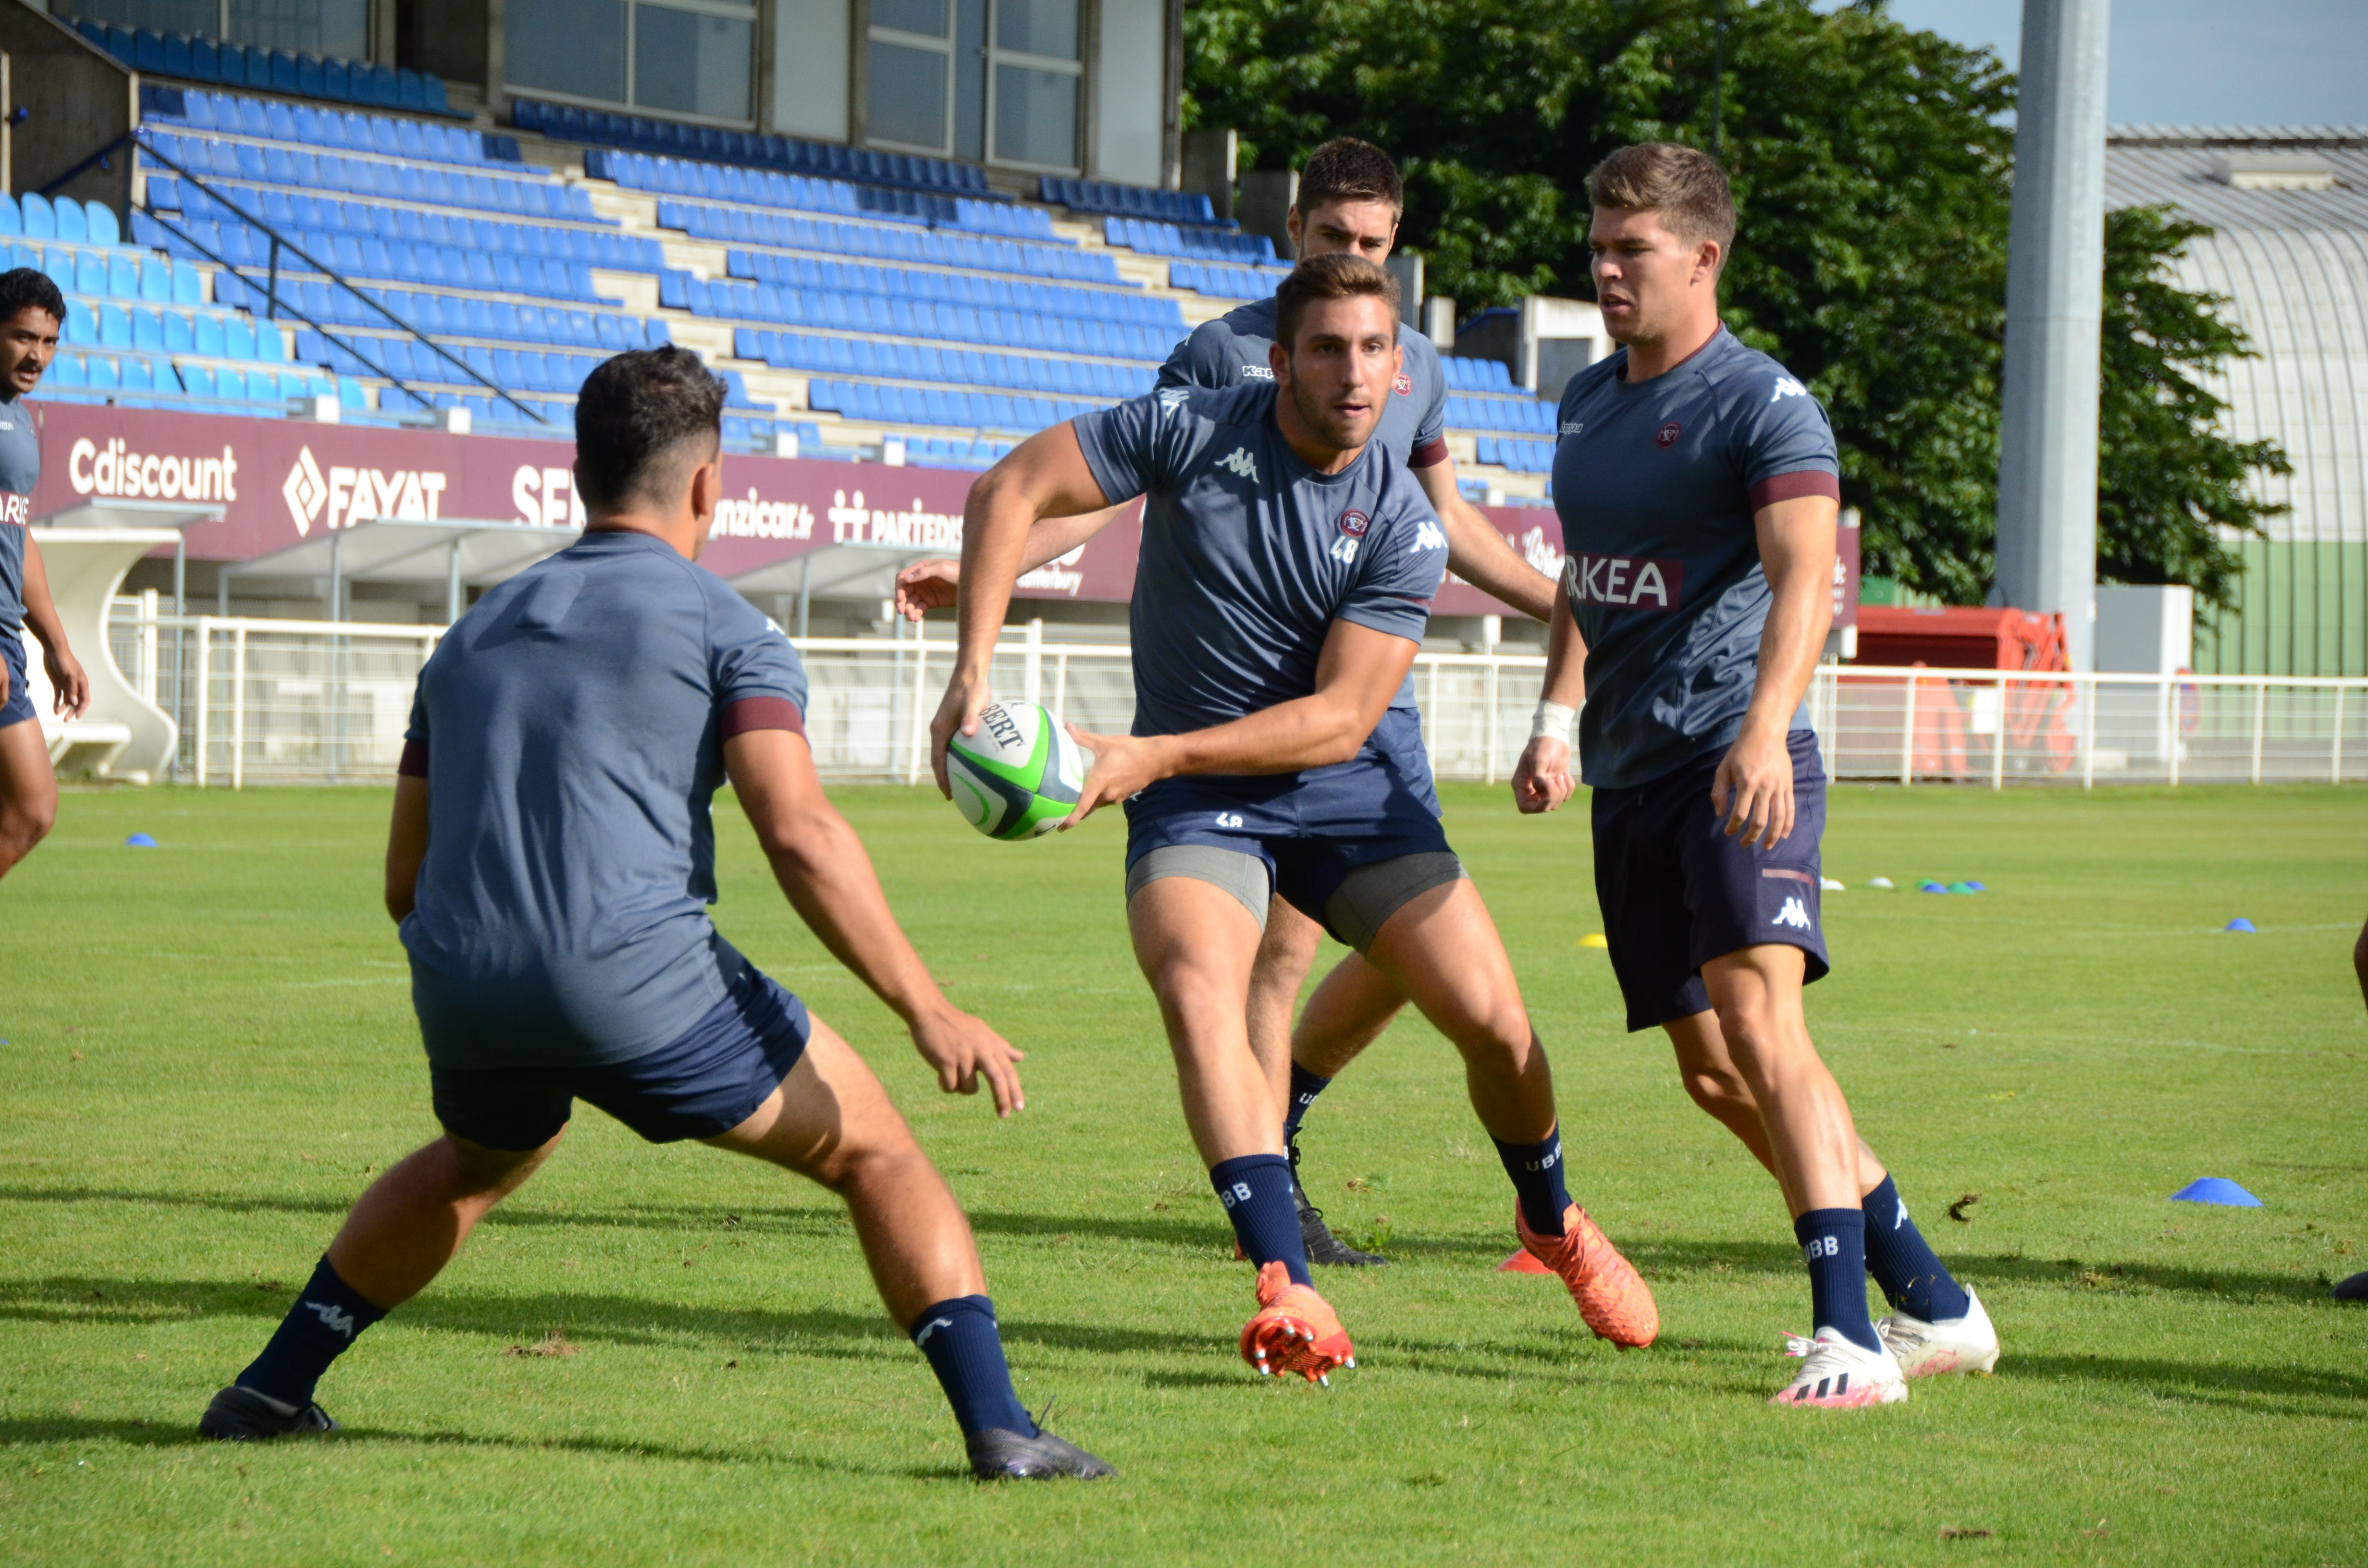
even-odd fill
[{"label": "grey-blue jersey with white ARKEA lettering on the front", "polygon": [[1558,426],[1563,585],[1587,640],[1579,770],[1627,789],[1743,730],[1769,616],[1752,514],[1840,500],[1840,462],[1809,388],[1724,327],[1650,381],[1627,379],[1624,348],[1589,365]]}]

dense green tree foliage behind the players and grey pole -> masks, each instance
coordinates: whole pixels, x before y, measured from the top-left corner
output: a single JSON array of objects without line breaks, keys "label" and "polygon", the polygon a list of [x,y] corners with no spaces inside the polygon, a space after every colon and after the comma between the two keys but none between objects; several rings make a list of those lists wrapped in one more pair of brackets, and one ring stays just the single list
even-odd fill
[{"label": "dense green tree foliage behind the players and grey pole", "polygon": [[[1899,26],[1883,0],[1838,12],[1809,0],[1193,0],[1184,31],[1184,123],[1236,128],[1257,168],[1295,166],[1331,135],[1388,147],[1407,173],[1402,244],[1423,251],[1430,287],[1463,313],[1532,291],[1591,296],[1587,171],[1624,142],[1717,144],[1743,223],[1726,322],[1830,410],[1866,568],[1982,599],[2015,102],[1991,52]],[[2242,471],[2269,452],[2219,441],[2188,372],[2240,341],[2157,275],[2179,244],[2171,230],[2115,232],[2129,287],[2110,294],[2136,332],[2157,322],[2169,339],[2155,360],[2108,348],[2108,405],[2122,419],[2112,481],[2122,464],[2219,445],[2198,469],[2209,478],[2181,493],[2176,526],[2160,469],[2115,495],[2103,566],[2221,592],[2228,561],[2212,526],[2257,514],[2242,509]],[[2143,386],[2171,388],[2169,400],[2131,403]]]}]

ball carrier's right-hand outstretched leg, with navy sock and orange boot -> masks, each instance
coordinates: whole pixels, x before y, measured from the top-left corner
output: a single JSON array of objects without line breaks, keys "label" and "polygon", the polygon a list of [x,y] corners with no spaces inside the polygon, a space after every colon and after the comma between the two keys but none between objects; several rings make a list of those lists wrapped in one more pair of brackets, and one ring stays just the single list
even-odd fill
[{"label": "ball carrier's right-hand outstretched leg, with navy sock and orange boot", "polygon": [[1563,1189],[1553,1071],[1480,891],[1459,876],[1414,895],[1381,924],[1366,957],[1463,1056],[1463,1087],[1518,1194],[1520,1244],[1563,1279],[1601,1338],[1650,1345],[1660,1334],[1653,1293]]}]

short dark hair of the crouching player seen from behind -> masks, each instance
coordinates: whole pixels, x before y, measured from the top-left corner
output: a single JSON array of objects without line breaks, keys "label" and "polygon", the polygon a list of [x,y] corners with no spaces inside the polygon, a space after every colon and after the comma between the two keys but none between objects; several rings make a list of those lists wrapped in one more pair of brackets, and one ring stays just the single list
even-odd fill
[{"label": "short dark hair of the crouching player seen from behind", "polygon": [[601,360],[575,393],[575,488],[587,507],[673,502],[677,448],[703,462],[722,443],[725,384],[689,348],[635,348]]}]

